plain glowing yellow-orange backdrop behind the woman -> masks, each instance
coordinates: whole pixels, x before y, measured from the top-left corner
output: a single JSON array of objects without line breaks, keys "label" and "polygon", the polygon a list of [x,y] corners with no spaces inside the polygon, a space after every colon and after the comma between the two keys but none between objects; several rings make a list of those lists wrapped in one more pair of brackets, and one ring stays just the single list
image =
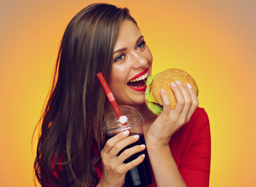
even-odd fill
[{"label": "plain glowing yellow-orange backdrop behind the woman", "polygon": [[[31,136],[70,19],[97,1],[1,1],[0,186],[33,186]],[[101,1],[128,6],[153,72],[184,69],[211,121],[210,186],[256,186],[256,1]]]}]

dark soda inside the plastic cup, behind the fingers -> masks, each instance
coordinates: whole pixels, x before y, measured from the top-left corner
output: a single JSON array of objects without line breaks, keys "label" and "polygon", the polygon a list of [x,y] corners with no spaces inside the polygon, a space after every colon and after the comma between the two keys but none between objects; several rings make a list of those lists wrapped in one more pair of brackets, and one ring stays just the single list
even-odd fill
[{"label": "dark soda inside the plastic cup, behind the fingers", "polygon": [[[135,134],[131,134],[131,135],[135,135]],[[136,146],[136,145],[142,145],[145,144],[145,139],[144,136],[142,134],[138,134],[139,135],[139,140],[136,141],[135,143],[132,143],[126,147],[124,147],[123,150],[121,150],[118,154],[120,155],[124,150],[131,148],[132,146]],[[106,136],[106,139],[110,139],[113,136]],[[149,161],[148,161],[148,157],[147,157],[147,153],[146,153],[146,149],[142,150],[139,153],[135,153],[133,154],[131,157],[128,157],[128,159],[126,159],[124,161],[124,163],[128,163],[130,161],[135,160],[137,157],[139,157],[139,155],[141,154],[145,154],[146,157],[144,158],[144,161],[142,161],[141,164],[139,164],[138,166],[136,166],[135,168],[132,168],[131,170],[129,170],[126,175],[125,175],[125,186],[126,187],[145,187],[147,185],[150,185],[152,183],[152,178],[150,175],[150,167],[149,167]]]}]

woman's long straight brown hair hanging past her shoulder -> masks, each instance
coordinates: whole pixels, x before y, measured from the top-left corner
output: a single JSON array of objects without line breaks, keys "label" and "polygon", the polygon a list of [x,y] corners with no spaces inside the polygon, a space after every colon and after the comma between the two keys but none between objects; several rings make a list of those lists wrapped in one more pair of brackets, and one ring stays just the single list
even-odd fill
[{"label": "woman's long straight brown hair hanging past her shoulder", "polygon": [[[41,131],[34,171],[42,186],[88,187],[98,182],[93,150],[103,147],[106,97],[96,73],[109,79],[124,19],[135,23],[126,8],[92,4],[74,16],[63,34],[51,94],[38,122]],[[52,172],[51,161],[58,176]]]}]

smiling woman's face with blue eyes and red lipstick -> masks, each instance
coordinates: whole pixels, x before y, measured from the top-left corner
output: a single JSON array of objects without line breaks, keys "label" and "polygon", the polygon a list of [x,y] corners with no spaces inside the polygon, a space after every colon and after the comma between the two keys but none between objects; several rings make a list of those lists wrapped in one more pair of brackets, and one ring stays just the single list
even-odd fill
[{"label": "smiling woman's face with blue eyes and red lipstick", "polygon": [[146,77],[151,75],[152,54],[138,27],[124,20],[114,46],[110,89],[117,104],[144,104]]}]

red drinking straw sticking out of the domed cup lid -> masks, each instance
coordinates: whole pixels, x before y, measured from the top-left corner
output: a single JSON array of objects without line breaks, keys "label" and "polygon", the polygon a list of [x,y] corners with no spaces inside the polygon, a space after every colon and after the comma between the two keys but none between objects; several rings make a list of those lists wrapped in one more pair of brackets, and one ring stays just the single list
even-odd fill
[{"label": "red drinking straw sticking out of the domed cup lid", "polygon": [[[107,85],[106,80],[103,77],[103,74],[101,72],[99,72],[97,74],[99,82],[101,83],[101,85],[103,86],[103,89],[105,90],[106,93],[106,97],[109,99],[110,104],[112,105],[112,107],[114,108],[114,111],[117,114],[117,117],[120,118],[121,117],[121,111],[120,108],[117,105],[117,101],[114,98],[114,95],[112,94],[110,87]],[[125,123],[123,125],[126,125]]]}]

